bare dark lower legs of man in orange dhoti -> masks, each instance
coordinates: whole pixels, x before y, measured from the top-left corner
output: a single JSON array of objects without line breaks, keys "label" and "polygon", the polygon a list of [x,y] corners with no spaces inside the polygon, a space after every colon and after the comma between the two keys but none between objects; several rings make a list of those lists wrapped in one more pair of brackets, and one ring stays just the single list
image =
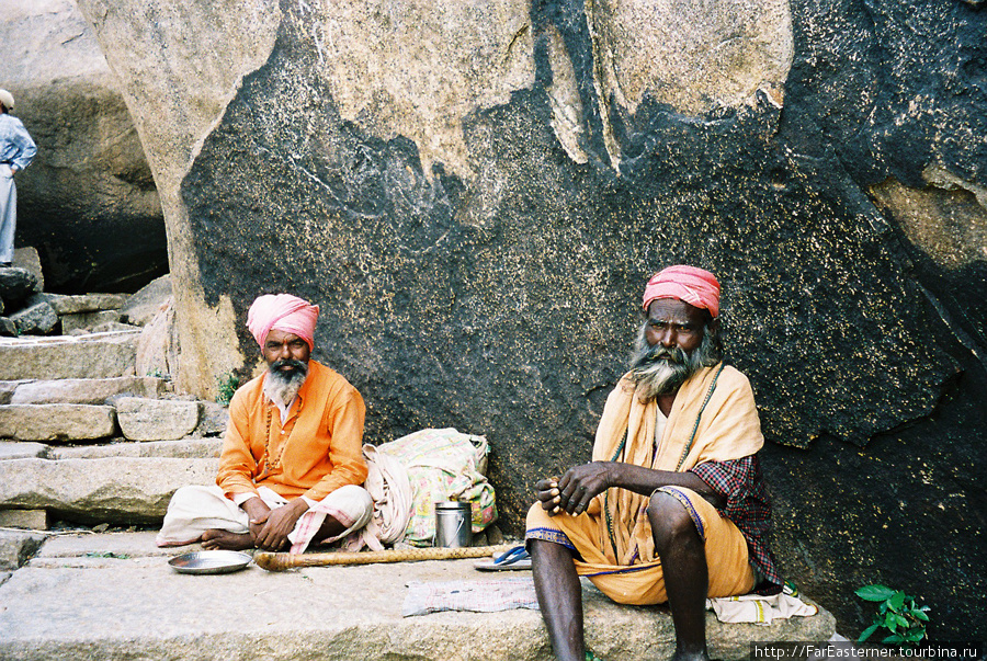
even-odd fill
[{"label": "bare dark lower legs of man in orange dhoti", "polygon": [[[651,495],[648,518],[676,627],[673,659],[707,659],[705,600],[710,580],[703,539],[685,508],[661,491]],[[582,589],[574,551],[543,539],[530,539],[527,544],[552,649],[559,661],[583,661]]]}]

